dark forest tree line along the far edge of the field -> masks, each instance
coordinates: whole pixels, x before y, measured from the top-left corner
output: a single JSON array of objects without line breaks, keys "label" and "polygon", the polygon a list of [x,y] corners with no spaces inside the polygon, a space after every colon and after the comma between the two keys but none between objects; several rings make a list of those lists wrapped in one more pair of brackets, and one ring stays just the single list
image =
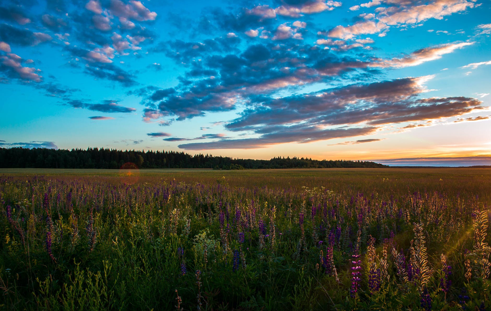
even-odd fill
[{"label": "dark forest tree line along the far edge of the field", "polygon": [[[128,166],[125,163],[134,163]],[[273,157],[271,160],[239,159],[228,156],[175,151],[135,151],[105,148],[47,149],[0,148],[1,168],[378,168],[387,165],[370,161],[313,160],[312,158]]]}]

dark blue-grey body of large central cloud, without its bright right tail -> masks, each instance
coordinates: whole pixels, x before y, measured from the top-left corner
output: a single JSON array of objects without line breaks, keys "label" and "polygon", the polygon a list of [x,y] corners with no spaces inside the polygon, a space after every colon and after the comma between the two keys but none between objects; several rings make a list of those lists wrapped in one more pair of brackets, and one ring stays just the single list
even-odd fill
[{"label": "dark blue-grey body of large central cloud, without its bright right tail", "polygon": [[[191,43],[180,44],[192,48]],[[196,44],[195,50],[200,47]],[[341,59],[317,47],[290,43],[253,45],[240,54],[214,53],[207,56],[205,53],[201,57],[202,61],[191,62],[190,70],[179,78],[177,87],[156,91],[143,100],[155,110],[153,117],[177,116],[178,120],[184,120],[203,116],[206,112],[232,110],[238,101],[253,102],[251,97],[257,93],[269,94],[282,88],[296,88],[332,79],[334,75],[355,70],[353,68],[367,67],[346,56]],[[327,62],[328,69],[325,68]],[[144,118],[147,117],[145,115]]]}]

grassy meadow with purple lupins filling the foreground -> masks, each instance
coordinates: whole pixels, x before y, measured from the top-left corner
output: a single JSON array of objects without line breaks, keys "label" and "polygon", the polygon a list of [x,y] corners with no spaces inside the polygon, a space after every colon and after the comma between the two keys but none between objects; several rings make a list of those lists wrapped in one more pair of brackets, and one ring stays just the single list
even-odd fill
[{"label": "grassy meadow with purple lupins filling the foreground", "polygon": [[4,310],[490,310],[491,170],[0,170]]}]

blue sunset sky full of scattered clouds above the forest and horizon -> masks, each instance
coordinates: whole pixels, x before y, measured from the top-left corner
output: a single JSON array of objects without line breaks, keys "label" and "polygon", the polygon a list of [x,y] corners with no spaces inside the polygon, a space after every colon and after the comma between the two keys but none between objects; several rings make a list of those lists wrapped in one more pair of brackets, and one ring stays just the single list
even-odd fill
[{"label": "blue sunset sky full of scattered clouds above the forest and horizon", "polygon": [[0,147],[491,165],[490,0],[0,0]]}]

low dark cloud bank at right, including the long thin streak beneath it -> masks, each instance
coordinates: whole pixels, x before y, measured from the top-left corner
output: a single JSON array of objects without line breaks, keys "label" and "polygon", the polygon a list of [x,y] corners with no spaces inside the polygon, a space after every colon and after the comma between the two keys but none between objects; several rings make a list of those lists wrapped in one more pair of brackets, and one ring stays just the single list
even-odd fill
[{"label": "low dark cloud bank at right, including the long thin streak beneath it", "polygon": [[[179,145],[179,148],[247,149],[287,142],[307,143],[353,137],[371,134],[385,124],[441,119],[482,108],[482,102],[466,97],[418,98],[426,90],[422,86],[425,78],[352,84],[283,98],[257,96],[254,98],[255,104],[244,110],[239,118],[226,124],[225,128],[252,131],[259,137],[189,143]],[[356,127],[359,124],[365,126]],[[332,126],[338,128],[329,128]],[[377,139],[347,143],[371,141]]]}]

